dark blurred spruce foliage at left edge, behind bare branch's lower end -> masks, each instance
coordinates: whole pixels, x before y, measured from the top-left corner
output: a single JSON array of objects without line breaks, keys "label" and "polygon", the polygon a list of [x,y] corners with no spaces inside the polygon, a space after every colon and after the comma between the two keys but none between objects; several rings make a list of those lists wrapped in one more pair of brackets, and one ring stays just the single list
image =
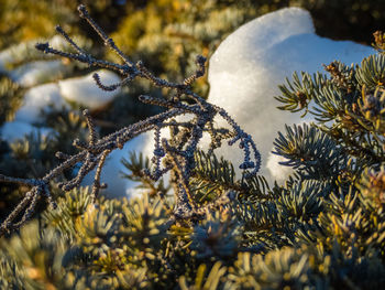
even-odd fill
[{"label": "dark blurred spruce foliage at left edge, behind bare branch's lower end", "polygon": [[[56,132],[51,132],[47,136],[33,132],[24,137],[21,136],[12,143],[3,143],[3,149],[0,152],[0,172],[8,172],[19,178],[42,176],[47,169],[58,163],[58,160],[53,158],[57,151],[74,153],[74,149],[68,150],[73,148],[72,140],[77,136],[86,139],[86,123],[75,112],[67,110],[51,112],[46,116],[46,121]],[[62,178],[68,179],[72,175],[72,172],[65,172]],[[19,187],[14,184],[1,185],[1,217],[9,214],[9,211],[19,203],[20,196],[25,191],[25,187]]]}]

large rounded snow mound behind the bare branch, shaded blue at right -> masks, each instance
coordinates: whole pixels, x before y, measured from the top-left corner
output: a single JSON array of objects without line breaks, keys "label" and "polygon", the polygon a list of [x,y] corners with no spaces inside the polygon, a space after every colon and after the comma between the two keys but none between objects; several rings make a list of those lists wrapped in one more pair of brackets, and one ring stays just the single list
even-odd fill
[{"label": "large rounded snow mound behind the bare branch, shaded blue at right", "polygon": [[[277,158],[270,157],[273,141],[285,123],[298,123],[300,118],[276,109],[277,85],[295,71],[316,73],[334,60],[360,63],[373,52],[350,41],[320,37],[306,10],[282,9],[244,24],[219,45],[210,58],[208,99],[253,136],[262,154],[260,173],[271,182],[283,180],[289,171],[277,164]],[[223,147],[218,152],[234,165],[242,158],[237,147]]]}]

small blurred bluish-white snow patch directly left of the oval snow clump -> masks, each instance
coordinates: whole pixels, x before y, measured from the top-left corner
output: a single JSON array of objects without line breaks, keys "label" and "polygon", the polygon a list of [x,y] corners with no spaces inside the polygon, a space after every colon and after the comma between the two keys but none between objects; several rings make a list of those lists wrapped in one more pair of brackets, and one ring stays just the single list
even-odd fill
[{"label": "small blurred bluish-white snow patch directly left of the oval snow clump", "polygon": [[30,123],[42,121],[42,110],[47,111],[48,105],[55,109],[68,107],[61,96],[59,87],[55,83],[30,88],[23,99],[23,105],[15,114],[15,120]]}]

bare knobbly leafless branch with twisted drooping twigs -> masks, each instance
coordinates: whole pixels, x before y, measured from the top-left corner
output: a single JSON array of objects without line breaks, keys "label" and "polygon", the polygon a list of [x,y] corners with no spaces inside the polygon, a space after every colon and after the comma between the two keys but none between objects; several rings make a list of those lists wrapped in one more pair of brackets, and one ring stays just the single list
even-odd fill
[{"label": "bare knobbly leafless branch with twisted drooping twigs", "polygon": [[[45,54],[59,55],[62,57],[78,61],[88,64],[89,67],[107,68],[123,76],[123,80],[121,83],[106,86],[103,85],[99,75],[95,74],[94,78],[96,84],[103,90],[113,90],[121,85],[127,85],[129,82],[134,80],[135,78],[143,78],[150,80],[156,87],[170,89],[173,97],[155,98],[151,96],[141,96],[141,101],[162,106],[167,108],[167,110],[145,120],[124,127],[103,138],[98,138],[95,122],[92,121],[89,112],[85,110],[84,116],[87,120],[90,138],[88,142],[80,142],[79,139],[74,140],[74,146],[79,149],[77,154],[66,155],[64,153],[58,153],[57,157],[64,159],[64,162],[57,165],[42,179],[20,180],[0,175],[0,181],[2,182],[15,182],[32,186],[31,191],[25,195],[23,201],[1,224],[0,235],[24,224],[25,221],[29,219],[34,213],[35,204],[42,196],[47,198],[48,202],[54,205],[53,197],[50,194],[50,182],[58,178],[64,171],[74,169],[74,167],[78,163],[81,163],[81,167],[78,170],[77,175],[69,181],[61,182],[59,187],[64,191],[70,191],[78,187],[84,178],[90,171],[97,169],[91,191],[91,200],[95,202],[99,190],[107,186],[100,183],[100,172],[105,164],[106,158],[113,150],[122,149],[124,143],[127,143],[129,140],[146,131],[153,130],[155,132],[156,141],[153,158],[155,170],[153,172],[146,172],[148,178],[156,181],[166,172],[170,170],[174,171],[174,189],[177,201],[174,208],[174,217],[172,217],[174,221],[179,218],[189,218],[193,216],[202,216],[207,212],[205,208],[198,208],[198,206],[195,204],[191,196],[191,190],[189,187],[189,179],[195,167],[194,153],[197,150],[198,142],[202,138],[204,132],[208,132],[210,135],[212,149],[217,148],[221,140],[229,138],[232,138],[229,141],[229,144],[240,142],[240,147],[244,152],[244,159],[240,164],[240,168],[244,170],[244,176],[251,178],[255,175],[261,165],[261,155],[254,141],[252,140],[252,137],[244,132],[224,109],[206,101],[202,97],[190,89],[191,84],[201,77],[206,72],[206,58],[204,56],[197,57],[196,63],[198,68],[191,76],[186,77],[183,83],[173,83],[160,78],[151,73],[142,62],[134,64],[132,61],[130,61],[130,58],[125,56],[114,44],[113,40],[110,39],[92,20],[85,6],[80,4],[78,7],[78,11],[80,17],[85,19],[88,24],[99,34],[105,45],[120,56],[123,64],[97,60],[80,49],[61,26],[56,26],[56,31],[69,43],[70,46],[75,49],[75,53],[55,50],[51,47],[48,43],[37,43],[36,49]],[[193,104],[183,103],[180,100],[180,96],[189,98]],[[174,119],[177,116],[183,116],[186,114],[191,114],[194,116],[188,123],[178,122]],[[228,122],[230,129],[215,128],[213,119],[218,115]],[[169,128],[172,131],[178,133],[170,139],[161,139],[161,128]],[[162,163],[165,164],[163,168],[161,167]],[[212,208],[218,204],[223,204],[223,201],[229,200],[231,198],[219,197],[218,201],[213,201],[206,207]],[[30,204],[29,207],[26,207],[28,204]],[[21,221],[15,223],[15,218],[21,213]]]}]

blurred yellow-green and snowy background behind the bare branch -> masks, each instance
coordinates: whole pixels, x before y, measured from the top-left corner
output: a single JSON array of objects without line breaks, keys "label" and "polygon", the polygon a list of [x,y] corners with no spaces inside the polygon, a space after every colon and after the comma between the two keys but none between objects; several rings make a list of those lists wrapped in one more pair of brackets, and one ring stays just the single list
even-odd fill
[{"label": "blurred yellow-green and snowy background behind the bare branch", "polygon": [[[105,101],[92,100],[90,105],[90,100],[80,98],[89,93],[91,69],[34,49],[36,42],[50,42],[69,50],[55,36],[55,25],[61,24],[92,55],[118,61],[78,17],[76,8],[80,2],[131,60],[142,60],[156,75],[175,82],[195,71],[197,54],[209,57],[237,28],[284,7],[309,10],[317,33],[333,40],[370,45],[373,32],[384,30],[385,23],[385,0],[0,0],[2,174],[42,176],[58,162],[56,151],[74,153],[72,141],[87,136],[79,114],[84,107],[91,108],[102,136],[160,110],[142,105],[136,97],[165,92],[142,82],[101,96]],[[114,75],[106,78],[119,80]],[[207,78],[195,86],[196,92],[207,96]],[[62,98],[66,101],[62,103]],[[47,106],[50,109],[43,109]],[[73,173],[66,174],[63,179]],[[0,218],[24,191],[0,183]]]}]

